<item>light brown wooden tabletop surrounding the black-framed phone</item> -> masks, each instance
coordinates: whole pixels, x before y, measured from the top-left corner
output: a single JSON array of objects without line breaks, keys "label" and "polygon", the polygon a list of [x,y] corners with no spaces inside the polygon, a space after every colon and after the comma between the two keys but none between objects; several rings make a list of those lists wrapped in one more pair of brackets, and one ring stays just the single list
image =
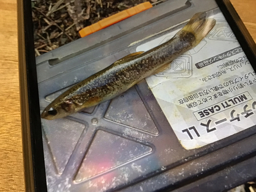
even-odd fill
[{"label": "light brown wooden tabletop surrounding the black-framed phone", "polygon": [[[256,41],[256,1],[231,2]],[[16,1],[0,5],[0,191],[24,191]]]}]

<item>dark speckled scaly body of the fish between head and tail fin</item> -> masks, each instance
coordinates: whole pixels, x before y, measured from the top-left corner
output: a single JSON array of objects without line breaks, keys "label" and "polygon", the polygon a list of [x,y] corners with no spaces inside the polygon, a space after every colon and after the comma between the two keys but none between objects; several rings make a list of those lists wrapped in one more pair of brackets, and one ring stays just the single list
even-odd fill
[{"label": "dark speckled scaly body of the fish between head and tail fin", "polygon": [[148,74],[154,73],[166,62],[172,62],[181,52],[189,50],[194,41],[195,35],[184,31],[171,41],[142,53],[139,58],[132,59],[125,65],[111,66],[104,73],[96,74],[86,86],[74,89],[67,99],[70,102],[83,103],[91,96],[105,98],[111,94],[109,97],[113,98],[126,87],[132,87]]}]

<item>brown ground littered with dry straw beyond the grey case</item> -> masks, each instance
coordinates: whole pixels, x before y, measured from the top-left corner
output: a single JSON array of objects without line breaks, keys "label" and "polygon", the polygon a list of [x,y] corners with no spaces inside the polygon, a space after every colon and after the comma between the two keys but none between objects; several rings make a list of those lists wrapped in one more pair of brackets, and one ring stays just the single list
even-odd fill
[{"label": "brown ground littered with dry straw beyond the grey case", "polygon": [[[147,0],[32,0],[36,56],[80,38],[78,31]],[[157,5],[163,0],[151,0]]]}]

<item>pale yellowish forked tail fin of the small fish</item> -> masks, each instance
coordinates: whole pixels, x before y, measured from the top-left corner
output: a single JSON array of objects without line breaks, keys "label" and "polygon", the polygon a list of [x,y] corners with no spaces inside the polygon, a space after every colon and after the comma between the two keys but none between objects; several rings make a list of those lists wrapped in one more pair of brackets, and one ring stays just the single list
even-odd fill
[{"label": "pale yellowish forked tail fin of the small fish", "polygon": [[206,37],[206,35],[214,28],[216,20],[214,18],[207,18],[205,12],[196,13],[182,29],[191,32],[196,37],[195,46]]}]

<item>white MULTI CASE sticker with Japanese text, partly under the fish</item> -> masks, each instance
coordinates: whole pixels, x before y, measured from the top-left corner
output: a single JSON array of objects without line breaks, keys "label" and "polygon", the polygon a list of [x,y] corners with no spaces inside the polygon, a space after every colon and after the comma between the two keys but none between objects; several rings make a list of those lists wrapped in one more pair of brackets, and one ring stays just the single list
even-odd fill
[{"label": "white MULTI CASE sticker with Japanese text, partly under the fish", "polygon": [[[194,49],[146,78],[180,143],[187,150],[256,124],[256,74],[222,13]],[[137,47],[150,50],[179,30]]]}]

